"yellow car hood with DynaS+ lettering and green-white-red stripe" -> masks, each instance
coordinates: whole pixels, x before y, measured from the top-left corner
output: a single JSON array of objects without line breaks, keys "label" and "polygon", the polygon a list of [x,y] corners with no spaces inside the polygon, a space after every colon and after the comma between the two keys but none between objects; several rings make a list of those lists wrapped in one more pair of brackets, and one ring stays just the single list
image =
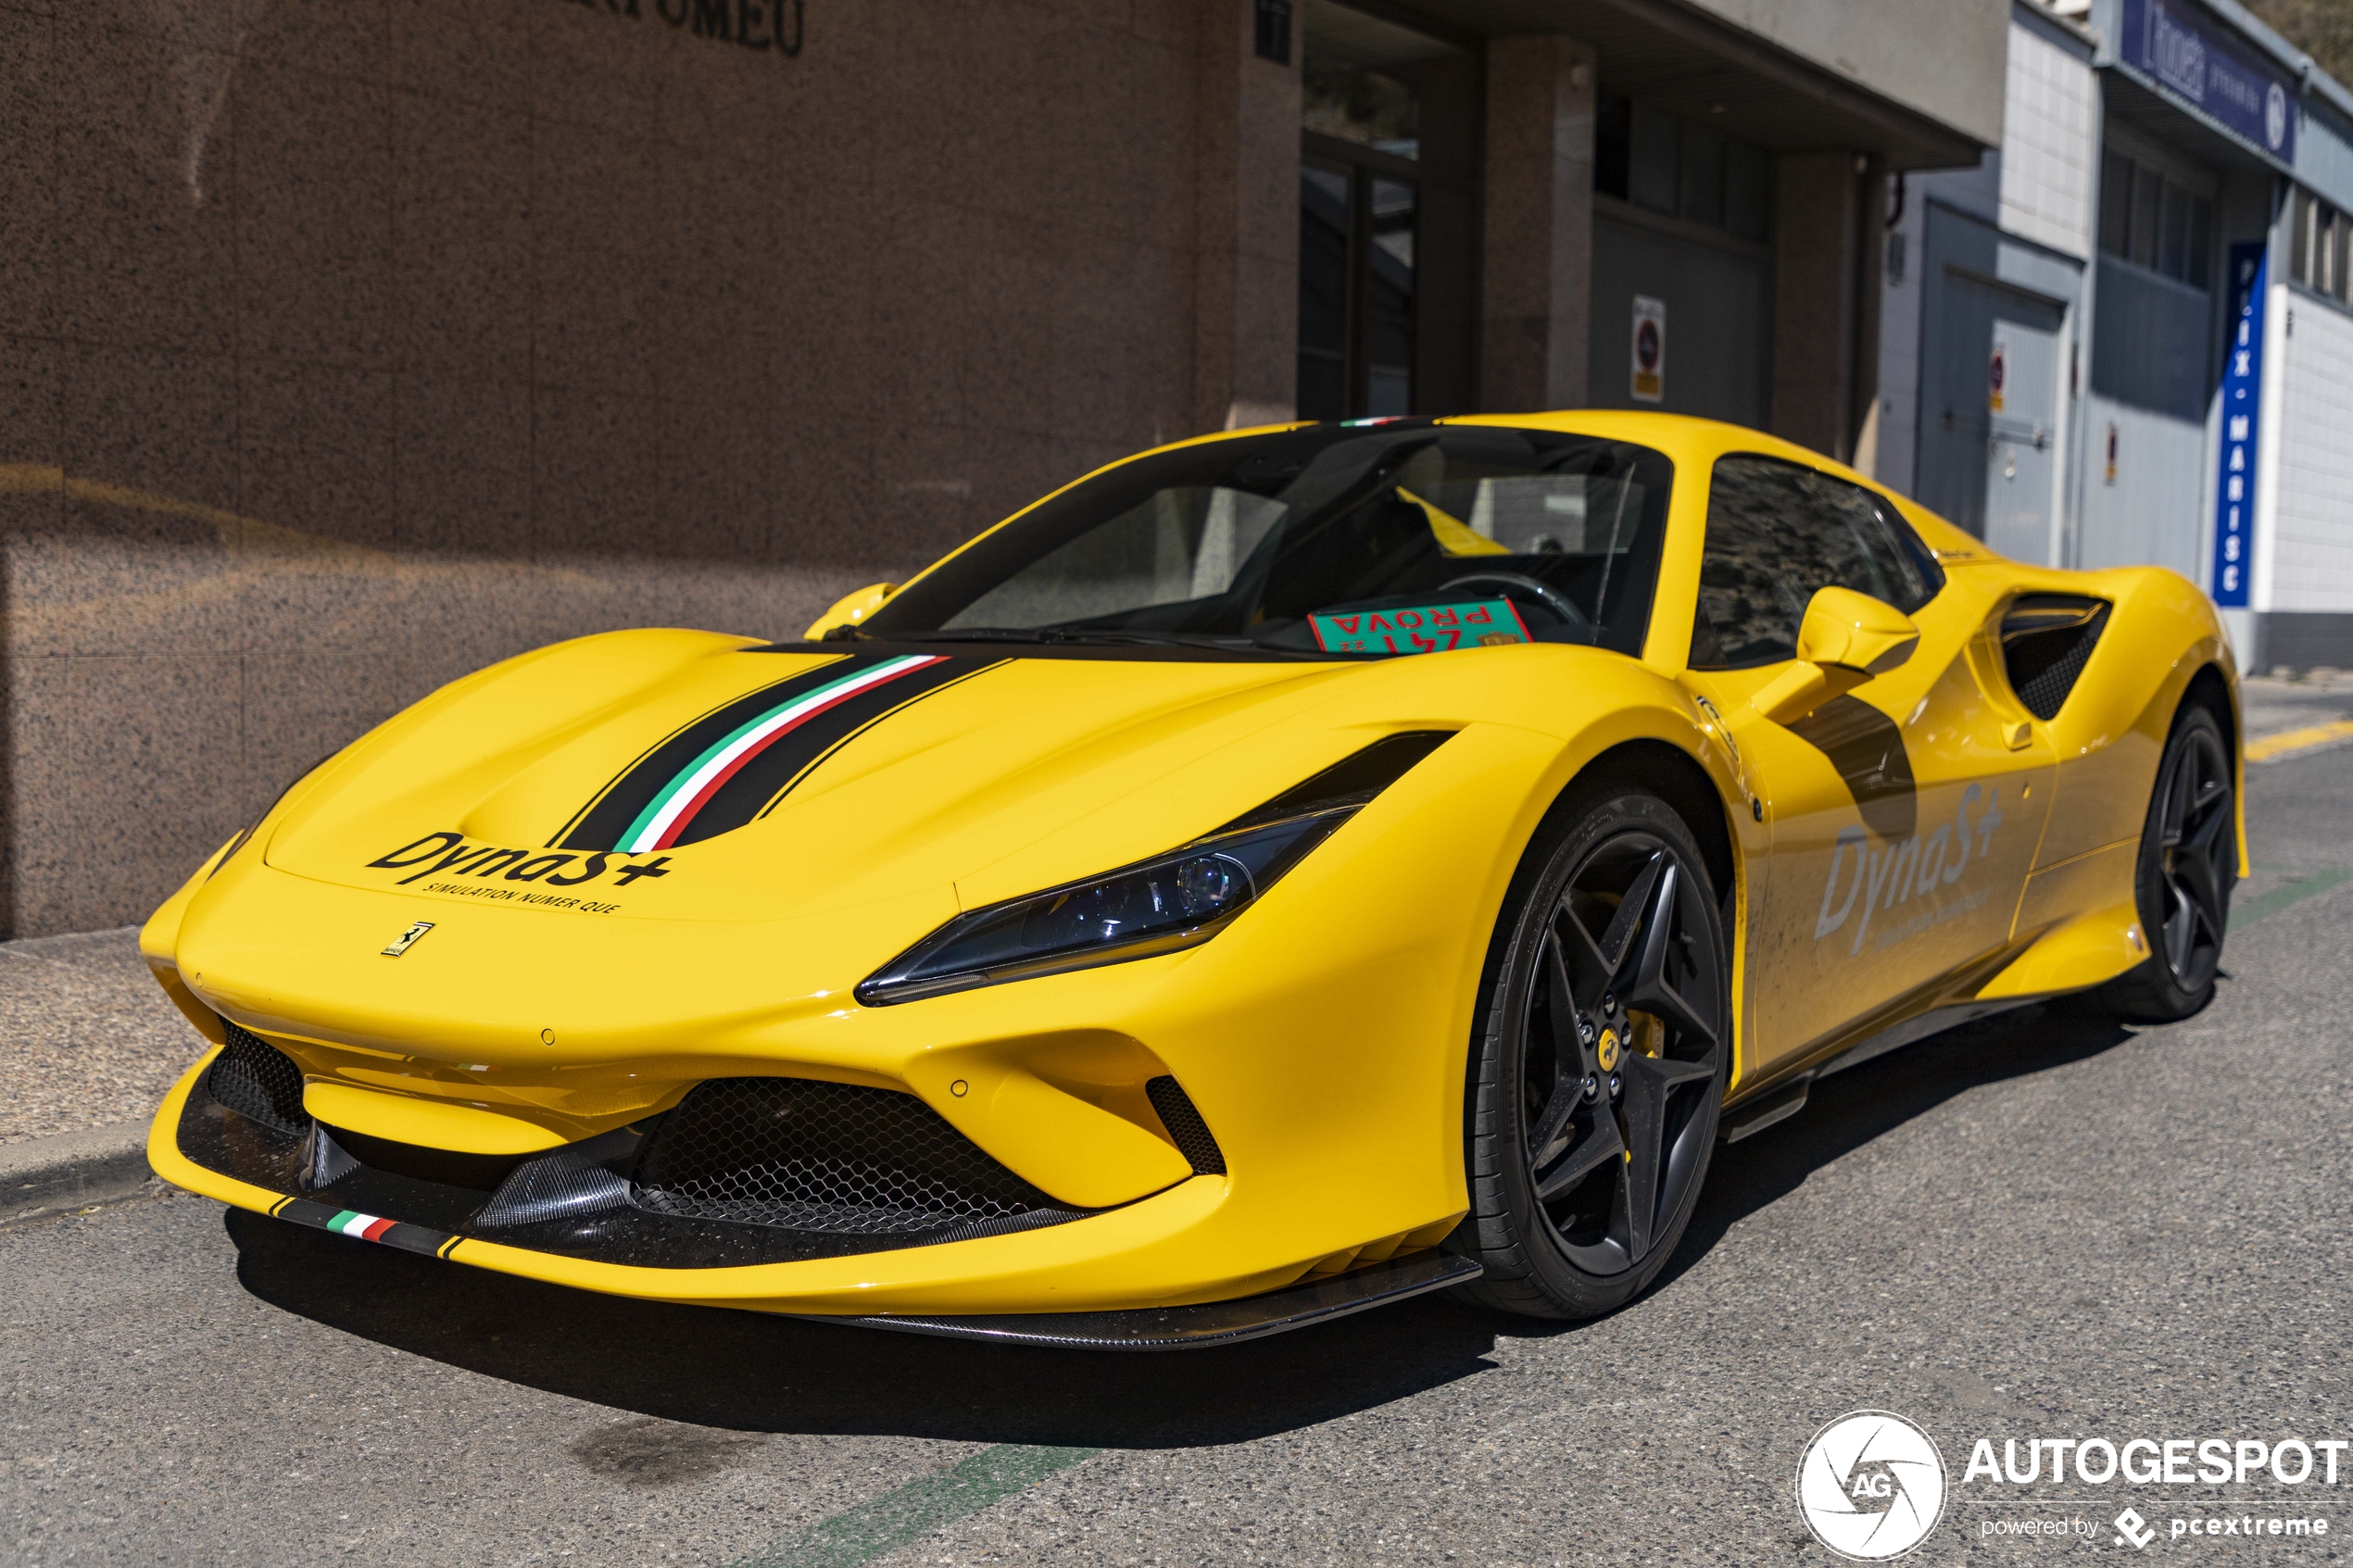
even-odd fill
[{"label": "yellow car hood with DynaS+ lettering and green-white-red stripe", "polygon": [[266,863],[619,919],[767,922],[915,889],[974,907],[1184,844],[1358,750],[1381,731],[1332,698],[1367,677],[614,635],[369,736],[299,790]]}]

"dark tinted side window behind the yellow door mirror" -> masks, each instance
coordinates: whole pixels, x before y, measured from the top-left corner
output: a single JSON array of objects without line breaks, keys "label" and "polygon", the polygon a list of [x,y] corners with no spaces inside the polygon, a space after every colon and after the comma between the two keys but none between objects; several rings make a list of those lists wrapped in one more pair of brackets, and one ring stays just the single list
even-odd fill
[{"label": "dark tinted side window behind the yellow door mirror", "polygon": [[1718,458],[1692,668],[1744,670],[1795,658],[1798,623],[1819,588],[1868,592],[1908,616],[1937,597],[1944,574],[1868,489],[1779,458]]}]

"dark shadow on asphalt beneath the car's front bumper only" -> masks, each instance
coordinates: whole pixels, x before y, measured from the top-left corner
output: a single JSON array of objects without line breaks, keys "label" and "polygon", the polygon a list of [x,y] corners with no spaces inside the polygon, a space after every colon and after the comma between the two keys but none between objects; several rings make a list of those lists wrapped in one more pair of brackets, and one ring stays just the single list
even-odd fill
[{"label": "dark shadow on asphalt beneath the car's front bumper only", "polygon": [[487,1378],[741,1432],[1195,1448],[1492,1371],[1499,1321],[1412,1300],[1191,1354],[1007,1349],[593,1295],[228,1211],[238,1279],[329,1328]]}]

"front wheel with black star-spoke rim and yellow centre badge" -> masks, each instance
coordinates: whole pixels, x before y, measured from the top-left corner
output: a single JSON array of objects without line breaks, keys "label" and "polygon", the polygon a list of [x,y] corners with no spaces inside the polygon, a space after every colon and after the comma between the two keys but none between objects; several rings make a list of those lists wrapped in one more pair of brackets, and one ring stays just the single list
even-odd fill
[{"label": "front wheel with black star-spoke rim and yellow centre badge", "polygon": [[1565,799],[1520,863],[1480,987],[1471,1215],[1449,1246],[1487,1274],[1464,1298],[1598,1316],[1666,1267],[1715,1150],[1729,976],[1673,806],[1624,785]]}]

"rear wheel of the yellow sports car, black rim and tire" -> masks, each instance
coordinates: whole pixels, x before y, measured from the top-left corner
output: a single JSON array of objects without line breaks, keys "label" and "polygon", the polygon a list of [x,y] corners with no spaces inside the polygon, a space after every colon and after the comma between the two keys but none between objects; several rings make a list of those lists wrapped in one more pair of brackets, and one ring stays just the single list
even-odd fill
[{"label": "rear wheel of the yellow sports car, black rim and tire", "polygon": [[2097,990],[2099,1006],[2129,1023],[2174,1023],[2202,1009],[2214,997],[2235,882],[2231,748],[2214,712],[2191,701],[2165,738],[2134,870],[2148,959]]}]

